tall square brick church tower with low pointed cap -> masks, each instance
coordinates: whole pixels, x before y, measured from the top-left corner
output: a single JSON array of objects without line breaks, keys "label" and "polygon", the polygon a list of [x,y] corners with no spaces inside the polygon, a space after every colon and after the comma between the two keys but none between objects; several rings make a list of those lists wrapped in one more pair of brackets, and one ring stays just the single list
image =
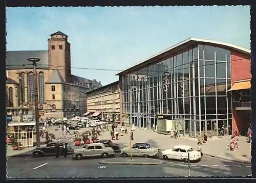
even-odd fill
[{"label": "tall square brick church tower with low pointed cap", "polygon": [[68,36],[60,31],[48,39],[49,68],[58,69],[65,83],[71,83],[71,55]]}]

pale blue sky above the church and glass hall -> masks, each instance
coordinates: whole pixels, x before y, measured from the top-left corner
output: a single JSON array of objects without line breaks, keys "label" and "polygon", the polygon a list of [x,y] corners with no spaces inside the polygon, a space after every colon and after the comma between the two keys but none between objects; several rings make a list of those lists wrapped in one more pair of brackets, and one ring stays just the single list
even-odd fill
[{"label": "pale blue sky above the church and glass hall", "polygon": [[[7,8],[7,50],[47,50],[61,31],[71,66],[123,70],[189,37],[250,49],[249,6]],[[106,85],[118,71],[72,68]]]}]

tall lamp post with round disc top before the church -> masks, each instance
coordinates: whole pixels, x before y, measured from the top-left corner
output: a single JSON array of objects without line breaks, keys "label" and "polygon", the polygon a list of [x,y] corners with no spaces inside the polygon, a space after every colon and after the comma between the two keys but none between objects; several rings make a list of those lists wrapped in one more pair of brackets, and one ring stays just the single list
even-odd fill
[{"label": "tall lamp post with round disc top before the church", "polygon": [[39,136],[39,110],[38,110],[38,91],[37,91],[37,72],[36,72],[36,62],[39,62],[39,58],[28,58],[29,62],[33,63],[33,73],[34,73],[34,99],[35,99],[35,128],[36,128],[36,146],[40,147],[40,136]]}]

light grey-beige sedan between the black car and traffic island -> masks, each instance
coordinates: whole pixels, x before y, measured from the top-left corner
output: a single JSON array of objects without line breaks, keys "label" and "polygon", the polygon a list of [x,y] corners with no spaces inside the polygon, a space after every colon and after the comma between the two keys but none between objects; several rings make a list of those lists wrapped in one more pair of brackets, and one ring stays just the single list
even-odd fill
[{"label": "light grey-beige sedan between the black car and traffic island", "polygon": [[106,158],[109,155],[114,155],[114,150],[111,147],[106,147],[101,143],[91,143],[83,146],[83,148],[75,149],[72,158],[78,160],[90,156]]}]

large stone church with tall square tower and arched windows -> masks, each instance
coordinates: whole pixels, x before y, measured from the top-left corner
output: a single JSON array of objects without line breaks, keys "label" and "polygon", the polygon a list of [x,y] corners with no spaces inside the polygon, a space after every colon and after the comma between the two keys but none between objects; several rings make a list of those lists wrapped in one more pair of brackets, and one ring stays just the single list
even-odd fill
[{"label": "large stone church with tall square tower and arched windows", "polygon": [[86,92],[101,84],[71,74],[70,54],[68,36],[61,32],[50,36],[48,50],[7,51],[7,112],[33,114],[34,73],[27,61],[31,57],[40,59],[36,66],[39,115],[69,117],[86,112]]}]

